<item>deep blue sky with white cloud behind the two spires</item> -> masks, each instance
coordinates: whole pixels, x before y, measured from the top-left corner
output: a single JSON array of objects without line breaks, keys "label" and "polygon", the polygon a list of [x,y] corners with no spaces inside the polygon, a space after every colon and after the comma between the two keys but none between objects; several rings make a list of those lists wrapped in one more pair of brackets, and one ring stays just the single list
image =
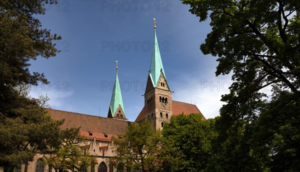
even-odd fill
[{"label": "deep blue sky with white cloud behind the two spires", "polygon": [[189,6],[177,0],[59,0],[46,5],[42,27],[62,36],[55,57],[31,61],[30,71],[44,72],[49,85],[31,87],[32,96],[47,94],[54,109],[107,116],[115,61],[126,117],[134,121],[143,107],[154,36],[172,99],[195,103],[206,118],[218,115],[229,76],[215,77],[216,57],[199,45],[210,31]]}]

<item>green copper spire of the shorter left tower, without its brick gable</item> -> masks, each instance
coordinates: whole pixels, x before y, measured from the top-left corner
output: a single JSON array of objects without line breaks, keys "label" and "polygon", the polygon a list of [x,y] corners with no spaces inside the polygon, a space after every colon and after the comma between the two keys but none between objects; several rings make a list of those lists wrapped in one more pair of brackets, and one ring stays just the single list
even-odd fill
[{"label": "green copper spire of the shorter left tower, without its brick gable", "polygon": [[114,114],[115,114],[115,112],[116,112],[116,110],[119,106],[122,108],[123,113],[125,113],[124,106],[123,106],[121,89],[120,89],[120,84],[119,84],[119,80],[118,80],[118,76],[117,76],[117,61],[116,61],[116,67],[115,68],[116,68],[115,81],[114,81],[111,100],[110,100],[110,105],[109,105],[112,116],[114,116]]}]

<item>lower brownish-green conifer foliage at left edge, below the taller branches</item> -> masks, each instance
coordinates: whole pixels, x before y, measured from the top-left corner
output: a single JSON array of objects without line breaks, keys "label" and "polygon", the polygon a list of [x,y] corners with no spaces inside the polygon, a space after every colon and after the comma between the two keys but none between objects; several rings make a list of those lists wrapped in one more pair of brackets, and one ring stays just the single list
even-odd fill
[{"label": "lower brownish-green conifer foliage at left edge, below the taller branches", "polygon": [[[15,93],[15,92],[14,92]],[[37,151],[51,152],[59,145],[59,126],[36,99],[16,96],[9,112],[0,113],[0,166],[4,171],[33,160]],[[13,112],[15,116],[9,114]]]}]

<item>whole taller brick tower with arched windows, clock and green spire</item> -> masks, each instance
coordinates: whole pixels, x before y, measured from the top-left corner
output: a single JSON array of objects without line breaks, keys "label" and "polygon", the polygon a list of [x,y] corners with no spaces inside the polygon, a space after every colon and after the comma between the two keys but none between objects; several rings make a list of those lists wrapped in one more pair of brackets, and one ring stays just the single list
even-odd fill
[{"label": "whole taller brick tower with arched windows, clock and green spire", "polygon": [[169,122],[172,115],[172,99],[171,91],[162,66],[155,23],[154,18],[154,40],[151,66],[144,93],[144,118],[151,120],[154,128],[161,129],[165,122]]}]

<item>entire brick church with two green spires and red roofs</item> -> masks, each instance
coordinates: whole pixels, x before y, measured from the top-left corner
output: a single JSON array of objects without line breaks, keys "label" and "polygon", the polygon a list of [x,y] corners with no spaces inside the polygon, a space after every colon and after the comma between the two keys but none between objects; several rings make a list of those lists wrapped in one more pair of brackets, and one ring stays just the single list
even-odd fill
[{"label": "entire brick church with two green spires and red roofs", "polygon": [[[134,122],[150,120],[156,129],[162,129],[165,122],[169,122],[172,115],[181,113],[201,113],[195,104],[172,100],[172,91],[169,88],[165,71],[160,57],[157,43],[154,19],[154,40],[150,69],[147,73],[147,83],[144,92],[144,106],[137,115]],[[48,108],[51,118],[55,120],[64,119],[62,128],[80,127],[80,133],[86,138],[82,145],[85,152],[94,157],[95,165],[84,171],[108,172],[116,171],[113,161],[111,136],[124,133],[126,127],[133,121],[127,121],[123,106],[122,95],[118,80],[117,66],[115,82],[113,85],[110,105],[107,117],[81,114],[70,111],[63,111]],[[205,120],[202,115],[202,120]],[[25,172],[50,172],[53,168],[43,163],[42,154],[37,154],[33,161],[22,164],[14,171]]]}]

